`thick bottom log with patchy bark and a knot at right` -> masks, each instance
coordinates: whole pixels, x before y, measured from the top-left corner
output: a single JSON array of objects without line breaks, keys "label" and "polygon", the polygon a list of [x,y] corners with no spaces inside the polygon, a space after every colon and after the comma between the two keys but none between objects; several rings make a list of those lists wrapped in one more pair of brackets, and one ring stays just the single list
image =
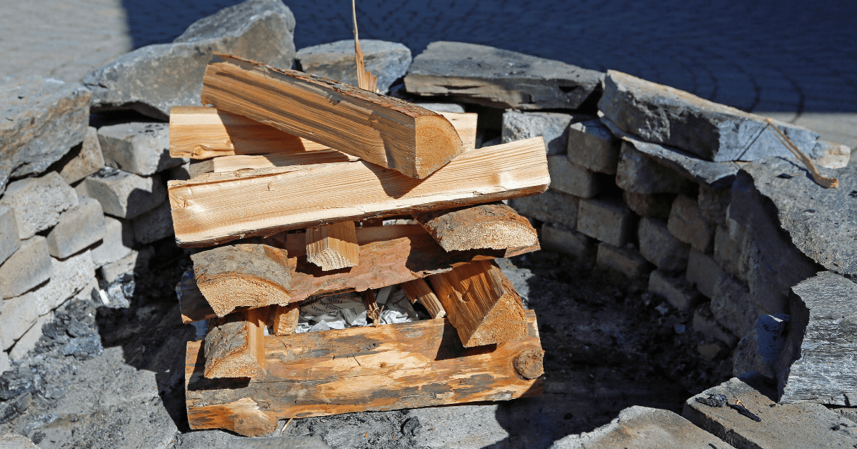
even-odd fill
[{"label": "thick bottom log with patchy bark and a knot at right", "polygon": [[[265,337],[262,379],[205,379],[198,342],[189,342],[185,401],[190,428],[270,434],[277,420],[542,393],[536,315],[526,336],[466,349],[446,319]],[[335,355],[335,356],[333,356]]]}]

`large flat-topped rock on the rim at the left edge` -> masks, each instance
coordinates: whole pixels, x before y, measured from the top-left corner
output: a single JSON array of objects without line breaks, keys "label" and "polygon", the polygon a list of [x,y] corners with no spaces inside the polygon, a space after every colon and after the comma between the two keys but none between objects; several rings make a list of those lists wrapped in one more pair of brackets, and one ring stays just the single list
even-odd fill
[{"label": "large flat-topped rock on the rim at the left edge", "polygon": [[80,84],[23,76],[0,80],[0,192],[39,174],[83,141],[90,93]]}]

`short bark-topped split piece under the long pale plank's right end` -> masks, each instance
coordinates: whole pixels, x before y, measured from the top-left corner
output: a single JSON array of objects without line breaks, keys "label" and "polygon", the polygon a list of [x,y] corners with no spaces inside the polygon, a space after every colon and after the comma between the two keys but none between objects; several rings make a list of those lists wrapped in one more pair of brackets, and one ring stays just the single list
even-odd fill
[{"label": "short bark-topped split piece under the long pale plank's right end", "polygon": [[414,218],[446,251],[512,248],[538,242],[530,221],[503,203],[434,210]]}]

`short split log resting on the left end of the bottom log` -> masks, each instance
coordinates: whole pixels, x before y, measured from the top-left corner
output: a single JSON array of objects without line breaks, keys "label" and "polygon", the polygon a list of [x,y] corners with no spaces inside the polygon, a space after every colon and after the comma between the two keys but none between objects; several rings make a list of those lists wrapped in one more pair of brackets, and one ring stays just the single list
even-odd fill
[{"label": "short split log resting on the left end of the bottom log", "polygon": [[265,375],[265,322],[268,307],[218,319],[205,340],[205,376],[261,378]]}]

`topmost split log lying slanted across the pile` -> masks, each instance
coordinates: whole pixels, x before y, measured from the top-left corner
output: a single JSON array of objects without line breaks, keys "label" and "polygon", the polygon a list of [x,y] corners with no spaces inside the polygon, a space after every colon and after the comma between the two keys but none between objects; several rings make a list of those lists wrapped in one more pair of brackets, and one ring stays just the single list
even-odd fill
[{"label": "topmost split log lying slanted across the pile", "polygon": [[437,112],[297,70],[215,53],[202,104],[424,179],[464,151]]}]

